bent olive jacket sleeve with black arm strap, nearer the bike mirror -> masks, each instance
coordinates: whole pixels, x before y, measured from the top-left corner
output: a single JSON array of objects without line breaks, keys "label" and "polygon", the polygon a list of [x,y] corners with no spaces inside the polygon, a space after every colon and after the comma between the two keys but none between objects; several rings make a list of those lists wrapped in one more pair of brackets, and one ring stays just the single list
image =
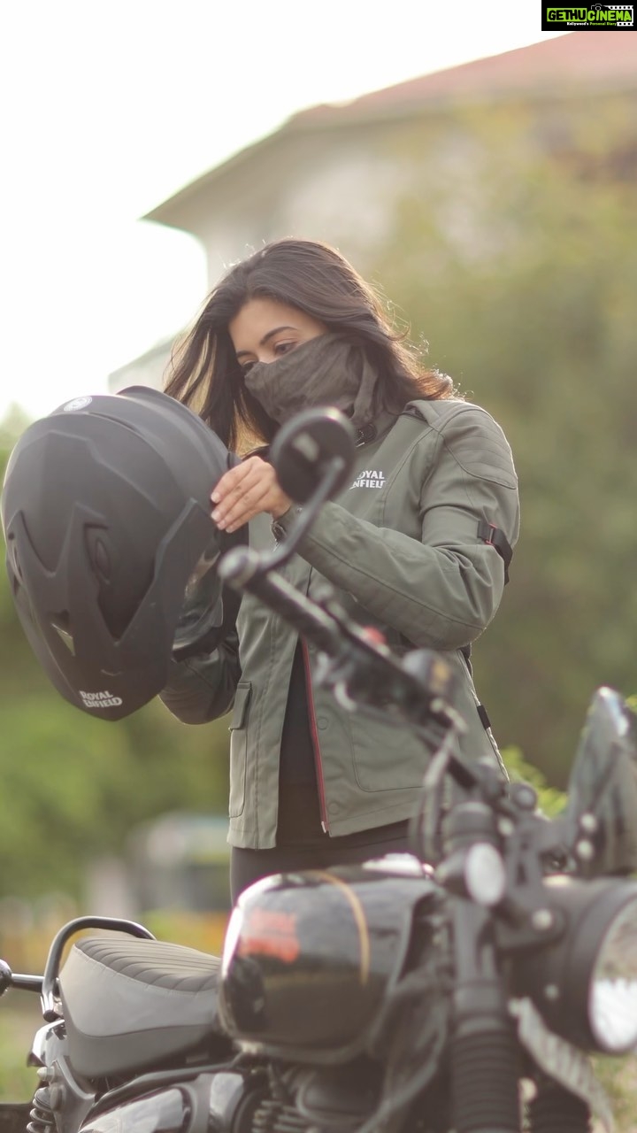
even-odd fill
[{"label": "bent olive jacket sleeve with black arm strap, nearer the bike mirror", "polygon": [[[487,412],[462,402],[425,428],[402,467],[397,485],[414,500],[419,539],[326,503],[299,553],[413,645],[460,648],[489,624],[504,586],[504,564],[478,537],[479,521],[500,528],[511,547],[518,538],[511,450]],[[280,522],[288,529],[294,514]]]}]

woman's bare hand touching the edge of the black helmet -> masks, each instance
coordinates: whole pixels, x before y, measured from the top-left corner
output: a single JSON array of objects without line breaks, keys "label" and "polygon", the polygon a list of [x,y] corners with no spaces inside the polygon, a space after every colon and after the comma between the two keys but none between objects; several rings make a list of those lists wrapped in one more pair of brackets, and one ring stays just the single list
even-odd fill
[{"label": "woman's bare hand touching the edge of the black helmet", "polygon": [[279,519],[292,503],[279,487],[272,465],[261,457],[248,457],[224,472],[210,499],[212,518],[222,531],[236,531],[262,511]]}]

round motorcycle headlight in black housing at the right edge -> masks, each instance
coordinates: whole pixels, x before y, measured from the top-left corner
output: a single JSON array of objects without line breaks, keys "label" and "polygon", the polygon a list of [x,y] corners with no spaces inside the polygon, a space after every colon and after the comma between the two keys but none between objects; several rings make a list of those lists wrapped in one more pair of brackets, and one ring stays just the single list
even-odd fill
[{"label": "round motorcycle headlight in black housing at the right edge", "polygon": [[530,995],[557,1034],[625,1054],[637,1045],[637,884],[562,876],[544,885],[564,930],[525,956],[517,991]]}]

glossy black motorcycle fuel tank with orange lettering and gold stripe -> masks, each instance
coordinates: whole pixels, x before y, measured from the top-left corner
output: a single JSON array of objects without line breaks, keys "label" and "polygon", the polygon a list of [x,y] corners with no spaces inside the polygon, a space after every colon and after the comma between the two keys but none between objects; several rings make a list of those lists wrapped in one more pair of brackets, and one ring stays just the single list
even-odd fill
[{"label": "glossy black motorcycle fuel tank with orange lettering and gold stripe", "polygon": [[250,886],[223,948],[220,1011],[229,1034],[283,1057],[349,1057],[401,971],[416,906],[439,892],[408,854]]}]

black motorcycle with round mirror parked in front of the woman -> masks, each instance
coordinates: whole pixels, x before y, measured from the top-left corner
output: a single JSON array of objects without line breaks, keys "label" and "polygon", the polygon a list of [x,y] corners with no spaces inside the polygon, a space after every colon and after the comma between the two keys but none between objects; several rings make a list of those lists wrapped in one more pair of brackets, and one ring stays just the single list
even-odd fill
[{"label": "black motorcycle with round mirror parked in front of the woman", "polygon": [[40,994],[43,1026],[33,1102],[0,1107],[1,1130],[612,1128],[591,1054],[637,1045],[636,717],[596,691],[552,820],[529,785],[460,758],[443,657],[398,657],[330,588],[316,602],[278,573],[347,482],[350,448],[332,411],[284,426],[272,459],[304,503],[296,528],[267,554],[226,552],[216,571],[320,648],[341,704],[421,738],[413,853],[256,883],[220,960],[84,917],[57,935],[42,976],[2,963],[0,994]]}]

